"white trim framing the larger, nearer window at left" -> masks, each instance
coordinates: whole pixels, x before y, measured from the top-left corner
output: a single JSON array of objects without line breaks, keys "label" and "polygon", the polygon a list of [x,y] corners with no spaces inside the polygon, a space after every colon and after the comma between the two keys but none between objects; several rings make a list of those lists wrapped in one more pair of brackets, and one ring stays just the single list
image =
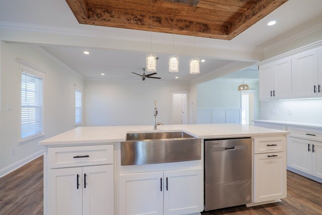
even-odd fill
[{"label": "white trim framing the larger, nearer window at left", "polygon": [[[25,142],[30,139],[34,139],[40,136],[45,135],[45,75],[49,72],[46,69],[43,69],[33,63],[30,63],[26,60],[16,58],[16,61],[19,63],[19,140],[18,142]],[[22,73],[30,74],[42,79],[42,129],[41,133],[30,135],[25,138],[21,138],[21,76]]]}]

